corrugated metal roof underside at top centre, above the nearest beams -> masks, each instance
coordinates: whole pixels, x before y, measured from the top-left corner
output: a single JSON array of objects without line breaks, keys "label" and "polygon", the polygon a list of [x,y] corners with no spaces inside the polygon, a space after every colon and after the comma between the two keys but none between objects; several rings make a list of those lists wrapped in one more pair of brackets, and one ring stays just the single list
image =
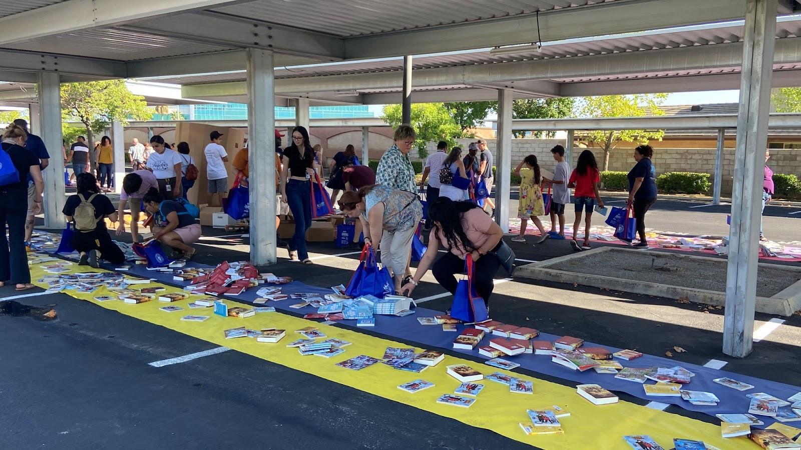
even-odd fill
[{"label": "corrugated metal roof underside at top centre, above the nearest beams", "polygon": [[399,30],[556,10],[617,0],[261,0],[213,10],[242,18],[276,22],[338,36],[360,36]]}]

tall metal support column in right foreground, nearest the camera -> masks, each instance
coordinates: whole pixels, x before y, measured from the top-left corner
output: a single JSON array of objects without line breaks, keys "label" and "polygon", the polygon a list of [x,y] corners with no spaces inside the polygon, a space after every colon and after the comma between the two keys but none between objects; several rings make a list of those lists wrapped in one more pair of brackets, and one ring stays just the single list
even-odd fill
[{"label": "tall metal support column in right foreground, nearest the camera", "polygon": [[751,352],[754,335],[760,208],[770,112],[776,7],[776,0],[746,2],[735,183],[731,192],[726,315],[723,319],[723,352],[739,358]]}]

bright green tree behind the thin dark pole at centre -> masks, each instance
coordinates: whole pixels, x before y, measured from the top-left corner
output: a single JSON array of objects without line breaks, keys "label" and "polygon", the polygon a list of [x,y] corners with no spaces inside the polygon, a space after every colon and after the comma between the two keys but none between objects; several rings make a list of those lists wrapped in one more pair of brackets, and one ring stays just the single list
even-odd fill
[{"label": "bright green tree behind the thin dark pole at centre", "polygon": [[[401,123],[402,110],[400,105],[384,106],[384,115],[381,119],[392,128]],[[461,128],[453,121],[445,105],[442,103],[415,103],[412,105],[412,118],[409,125],[417,131],[417,155],[425,158],[429,155],[426,144],[429,142],[445,141],[448,147],[456,145],[456,138],[461,137]]]}]

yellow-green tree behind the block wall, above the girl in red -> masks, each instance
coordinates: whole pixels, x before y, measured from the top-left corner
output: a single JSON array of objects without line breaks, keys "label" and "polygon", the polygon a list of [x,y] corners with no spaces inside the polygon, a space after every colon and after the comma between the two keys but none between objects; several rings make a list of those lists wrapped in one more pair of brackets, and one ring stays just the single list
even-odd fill
[{"label": "yellow-green tree behind the block wall, above the girl in red", "polygon": [[[659,106],[667,94],[602,95],[585,97],[579,102],[578,113],[582,117],[642,117],[663,115]],[[650,140],[662,140],[664,130],[598,130],[582,133],[582,139],[603,151],[602,170],[609,170],[609,154],[618,143],[637,142],[646,144]]]}]

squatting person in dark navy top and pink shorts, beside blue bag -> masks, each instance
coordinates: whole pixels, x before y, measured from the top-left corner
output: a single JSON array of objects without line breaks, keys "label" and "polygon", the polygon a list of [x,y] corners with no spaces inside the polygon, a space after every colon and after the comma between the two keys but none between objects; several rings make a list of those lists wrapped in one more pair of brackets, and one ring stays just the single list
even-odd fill
[{"label": "squatting person in dark navy top and pink shorts, beside blue bag", "polygon": [[165,200],[155,187],[142,198],[147,212],[154,215],[151,231],[159,243],[177,249],[171,259],[192,259],[197,250],[189,244],[200,239],[200,224],[181,203]]}]

